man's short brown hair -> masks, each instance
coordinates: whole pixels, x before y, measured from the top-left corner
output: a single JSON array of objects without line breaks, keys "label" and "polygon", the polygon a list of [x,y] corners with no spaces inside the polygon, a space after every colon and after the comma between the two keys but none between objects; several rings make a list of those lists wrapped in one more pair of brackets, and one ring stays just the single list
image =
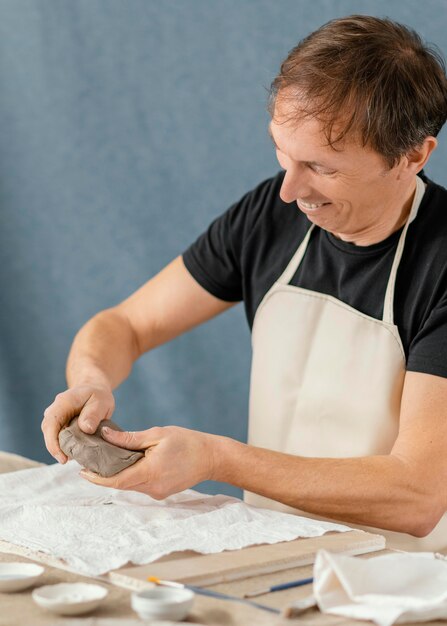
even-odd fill
[{"label": "man's short brown hair", "polygon": [[290,51],[270,86],[272,118],[282,98],[296,103],[286,121],[316,117],[333,148],[354,134],[393,167],[446,121],[445,63],[414,30],[351,15],[324,24]]}]

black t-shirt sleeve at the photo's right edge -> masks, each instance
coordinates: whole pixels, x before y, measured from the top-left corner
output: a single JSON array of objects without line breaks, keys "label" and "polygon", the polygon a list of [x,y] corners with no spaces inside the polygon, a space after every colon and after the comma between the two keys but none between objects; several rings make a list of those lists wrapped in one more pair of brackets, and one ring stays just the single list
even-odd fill
[{"label": "black t-shirt sleeve at the photo's right edge", "polygon": [[411,342],[407,370],[447,378],[447,291]]}]

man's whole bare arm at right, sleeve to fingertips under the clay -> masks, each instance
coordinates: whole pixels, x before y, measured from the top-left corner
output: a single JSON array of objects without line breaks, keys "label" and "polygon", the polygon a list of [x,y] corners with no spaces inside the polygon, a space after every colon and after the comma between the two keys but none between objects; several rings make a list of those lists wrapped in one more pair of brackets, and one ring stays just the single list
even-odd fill
[{"label": "man's whole bare arm at right, sleeve to fingertips under the clay", "polygon": [[319,516],[422,537],[447,509],[447,379],[408,372],[401,406],[389,455],[304,458],[168,426],[103,433],[111,443],[150,452],[111,478],[82,475],[159,499],[218,480]]}]

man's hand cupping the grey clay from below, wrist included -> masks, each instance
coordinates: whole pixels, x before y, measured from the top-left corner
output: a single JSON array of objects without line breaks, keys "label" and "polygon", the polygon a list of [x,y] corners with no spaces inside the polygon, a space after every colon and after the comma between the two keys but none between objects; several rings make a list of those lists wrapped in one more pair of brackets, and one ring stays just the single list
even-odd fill
[{"label": "man's hand cupping the grey clay from below, wrist included", "polygon": [[179,426],[139,432],[118,432],[104,427],[102,437],[121,448],[145,450],[145,457],[110,478],[87,470],[82,470],[81,476],[96,485],[140,491],[157,500],[212,479],[221,439],[218,435]]}]

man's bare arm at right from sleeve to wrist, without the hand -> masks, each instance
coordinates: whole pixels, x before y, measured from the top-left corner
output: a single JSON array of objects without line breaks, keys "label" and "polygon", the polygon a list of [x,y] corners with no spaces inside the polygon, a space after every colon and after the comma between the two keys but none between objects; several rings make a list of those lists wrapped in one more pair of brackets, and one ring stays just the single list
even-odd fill
[{"label": "man's bare arm at right from sleeve to wrist, without the hand", "polygon": [[316,515],[425,536],[447,510],[447,379],[407,372],[389,455],[319,459],[219,445],[216,480]]}]

